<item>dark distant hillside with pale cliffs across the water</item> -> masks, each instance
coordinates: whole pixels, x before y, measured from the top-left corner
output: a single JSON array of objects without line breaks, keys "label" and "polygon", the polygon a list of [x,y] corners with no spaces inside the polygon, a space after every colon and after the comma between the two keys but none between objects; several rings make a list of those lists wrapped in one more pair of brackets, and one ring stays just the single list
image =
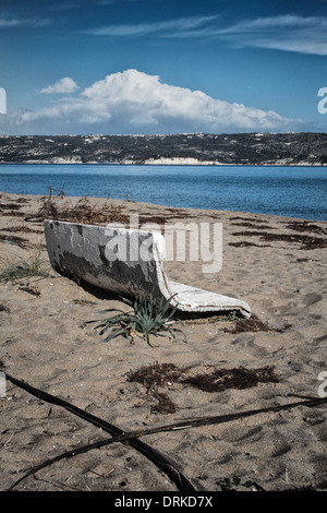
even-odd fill
[{"label": "dark distant hillside with pale cliffs across the water", "polygon": [[326,166],[326,133],[0,136],[7,164]]}]

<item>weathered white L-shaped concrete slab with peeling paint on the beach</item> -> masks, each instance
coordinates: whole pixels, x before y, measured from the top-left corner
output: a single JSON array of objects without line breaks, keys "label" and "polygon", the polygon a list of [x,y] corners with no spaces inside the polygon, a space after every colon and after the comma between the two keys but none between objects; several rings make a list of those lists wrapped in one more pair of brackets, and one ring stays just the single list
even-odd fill
[{"label": "weathered white L-shaped concrete slab with peeling paint on the beach", "polygon": [[251,314],[245,301],[170,281],[159,232],[46,220],[45,235],[51,265],[60,274],[117,294],[158,300],[173,296],[171,305],[186,312]]}]

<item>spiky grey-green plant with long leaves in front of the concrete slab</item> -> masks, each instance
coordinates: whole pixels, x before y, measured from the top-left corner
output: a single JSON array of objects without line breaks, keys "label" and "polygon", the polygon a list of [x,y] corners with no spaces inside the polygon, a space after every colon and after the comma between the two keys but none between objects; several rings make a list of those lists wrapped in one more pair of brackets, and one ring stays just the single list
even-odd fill
[{"label": "spiky grey-green plant with long leaves in front of the concrete slab", "polygon": [[[109,342],[118,335],[130,336],[134,343],[135,334],[141,335],[146,342],[154,347],[155,344],[150,342],[150,335],[162,336],[168,332],[174,338],[175,333],[182,333],[184,342],[187,342],[185,334],[182,330],[172,327],[174,322],[183,325],[180,319],[175,319],[175,308],[171,308],[171,299],[167,301],[161,298],[159,305],[156,303],[153,297],[146,299],[138,296],[134,301],[121,298],[126,305],[133,308],[132,311],[124,312],[119,309],[104,310],[100,313],[119,312],[109,319],[105,319],[96,329],[101,327],[100,335],[106,333],[109,329],[113,329],[111,333],[105,338],[104,342]],[[114,327],[118,326],[118,327]]]}]

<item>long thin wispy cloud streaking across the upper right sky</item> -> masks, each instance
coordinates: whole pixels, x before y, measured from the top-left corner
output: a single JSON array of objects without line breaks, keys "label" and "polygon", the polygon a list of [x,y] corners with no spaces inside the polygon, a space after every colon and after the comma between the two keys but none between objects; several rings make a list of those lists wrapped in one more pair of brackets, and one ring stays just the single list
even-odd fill
[{"label": "long thin wispy cloud streaking across the upper right sky", "polygon": [[222,16],[190,16],[177,20],[107,25],[87,31],[101,36],[211,38],[232,47],[268,48],[318,56],[327,55],[327,17],[282,14],[240,20],[232,24]]}]

